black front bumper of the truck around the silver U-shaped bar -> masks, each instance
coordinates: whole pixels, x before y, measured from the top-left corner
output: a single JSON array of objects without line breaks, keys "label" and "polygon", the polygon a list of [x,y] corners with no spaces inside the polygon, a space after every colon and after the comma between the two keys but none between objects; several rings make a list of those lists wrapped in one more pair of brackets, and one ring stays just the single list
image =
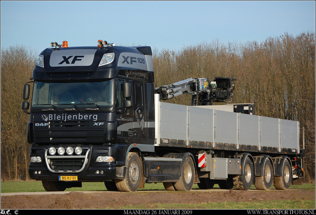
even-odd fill
[{"label": "black front bumper of the truck around the silver U-shaped bar", "polygon": [[82,146],[86,149],[82,156],[50,156],[47,155],[49,147],[32,145],[31,156],[40,156],[41,162],[30,163],[31,179],[59,181],[60,176],[77,176],[78,182],[102,182],[123,179],[125,175],[125,167],[117,166],[115,159],[113,162],[96,162],[100,155],[116,157],[115,145]]}]

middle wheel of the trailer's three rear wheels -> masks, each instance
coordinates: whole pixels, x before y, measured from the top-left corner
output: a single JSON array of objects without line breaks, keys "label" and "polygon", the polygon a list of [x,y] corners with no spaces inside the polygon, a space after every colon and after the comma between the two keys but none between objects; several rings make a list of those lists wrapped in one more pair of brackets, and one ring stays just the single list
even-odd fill
[{"label": "middle wheel of the trailer's three rear wheels", "polygon": [[268,190],[273,182],[273,167],[267,158],[263,166],[263,176],[256,176],[255,187],[260,190]]}]

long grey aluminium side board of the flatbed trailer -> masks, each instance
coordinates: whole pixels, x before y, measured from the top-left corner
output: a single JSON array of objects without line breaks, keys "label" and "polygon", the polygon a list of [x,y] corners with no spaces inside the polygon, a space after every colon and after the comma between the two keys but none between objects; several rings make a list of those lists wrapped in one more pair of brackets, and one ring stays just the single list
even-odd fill
[{"label": "long grey aluminium side board of the flatbed trailer", "polygon": [[155,94],[156,146],[300,152],[299,122],[160,102]]}]

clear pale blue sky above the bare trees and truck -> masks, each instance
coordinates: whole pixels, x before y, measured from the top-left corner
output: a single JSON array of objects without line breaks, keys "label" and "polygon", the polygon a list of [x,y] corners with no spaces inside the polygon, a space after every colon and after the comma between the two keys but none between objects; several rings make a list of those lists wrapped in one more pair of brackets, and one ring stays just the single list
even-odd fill
[{"label": "clear pale blue sky above the bare trees and truck", "polygon": [[157,51],[202,42],[263,42],[315,32],[315,1],[1,1],[1,49],[50,42],[148,45]]}]

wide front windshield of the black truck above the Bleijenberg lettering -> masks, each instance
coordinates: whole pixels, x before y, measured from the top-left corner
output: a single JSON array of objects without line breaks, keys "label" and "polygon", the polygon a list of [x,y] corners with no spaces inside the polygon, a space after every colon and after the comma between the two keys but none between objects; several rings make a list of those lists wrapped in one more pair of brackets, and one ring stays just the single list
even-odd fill
[{"label": "wide front windshield of the black truck above the Bleijenberg lettering", "polygon": [[34,82],[32,106],[87,105],[111,107],[114,104],[114,80],[100,82]]}]

